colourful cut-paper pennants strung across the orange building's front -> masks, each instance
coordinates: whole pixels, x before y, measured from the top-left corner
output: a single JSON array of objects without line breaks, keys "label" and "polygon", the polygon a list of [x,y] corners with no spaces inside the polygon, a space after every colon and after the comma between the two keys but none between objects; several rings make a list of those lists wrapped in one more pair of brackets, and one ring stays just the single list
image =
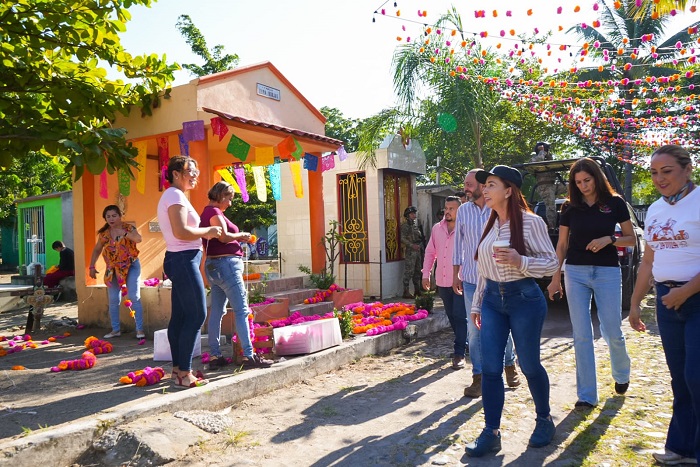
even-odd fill
[{"label": "colourful cut-paper pennants strung across the orange building's front", "polygon": [[[219,141],[228,134],[229,128],[220,117],[211,119],[211,128],[215,136],[219,137]],[[189,143],[191,141],[203,141],[205,139],[204,120],[194,120],[191,122],[183,122],[182,133],[178,134],[178,142],[180,154],[189,156]],[[140,166],[140,170],[136,173],[136,190],[144,194],[146,187],[146,155],[147,142],[137,141],[132,143],[137,151],[136,162]],[[167,173],[168,161],[170,160],[170,148],[167,137],[157,138],[158,145],[158,161],[160,169],[160,189],[165,189],[168,186]],[[253,147],[233,133],[230,136],[226,151],[240,162],[233,164],[233,174],[228,168],[219,169],[217,173],[222,180],[233,186],[234,191],[241,194],[243,202],[247,203],[250,200],[248,193],[244,162],[248,158],[249,153],[253,149],[255,154],[254,164],[251,164],[250,170],[253,174],[255,182],[255,193],[257,198],[265,202],[267,201],[267,190],[265,186],[265,169],[267,176],[270,179],[272,188],[272,196],[276,201],[282,199],[282,184],[281,184],[281,169],[280,160],[287,159],[289,161],[289,169],[292,175],[292,183],[294,185],[294,195],[297,198],[304,196],[302,185],[301,170],[309,170],[316,172],[319,169],[319,157],[314,154],[305,153],[301,144],[293,136],[287,136],[277,144],[279,158],[274,156],[274,148]],[[348,154],[343,146],[340,146],[337,151],[320,158],[321,172],[335,168],[335,155],[338,155],[340,161],[347,159]],[[117,173],[119,193],[123,196],[129,196],[131,193],[131,177],[128,172],[119,170]],[[107,199],[107,171],[103,171],[100,175],[99,195],[103,199]]]}]

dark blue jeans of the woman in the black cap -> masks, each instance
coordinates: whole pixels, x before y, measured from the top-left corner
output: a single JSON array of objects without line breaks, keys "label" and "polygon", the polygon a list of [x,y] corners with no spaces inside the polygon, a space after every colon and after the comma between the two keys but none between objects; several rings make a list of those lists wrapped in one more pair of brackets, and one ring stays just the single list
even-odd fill
[{"label": "dark blue jeans of the woman in the black cap", "polygon": [[538,417],[549,417],[549,376],[540,362],[540,338],[546,316],[547,302],[534,279],[487,282],[481,306],[481,397],[487,429],[497,430],[501,425],[505,399],[503,352],[509,332],[518,348],[520,369],[527,378],[535,412]]}]

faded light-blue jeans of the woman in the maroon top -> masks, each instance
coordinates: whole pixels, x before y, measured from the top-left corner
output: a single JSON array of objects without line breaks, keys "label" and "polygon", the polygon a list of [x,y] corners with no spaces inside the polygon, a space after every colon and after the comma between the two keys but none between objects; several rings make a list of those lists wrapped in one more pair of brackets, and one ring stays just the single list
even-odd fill
[{"label": "faded light-blue jeans of the woman in the maroon top", "polygon": [[248,293],[243,282],[243,259],[239,256],[207,258],[204,273],[211,286],[211,314],[209,315],[209,349],[216,357],[221,356],[219,337],[221,319],[226,314],[226,303],[230,300],[236,318],[236,334],[243,348],[243,355],[253,356],[253,343],[250,341],[248,324]]}]

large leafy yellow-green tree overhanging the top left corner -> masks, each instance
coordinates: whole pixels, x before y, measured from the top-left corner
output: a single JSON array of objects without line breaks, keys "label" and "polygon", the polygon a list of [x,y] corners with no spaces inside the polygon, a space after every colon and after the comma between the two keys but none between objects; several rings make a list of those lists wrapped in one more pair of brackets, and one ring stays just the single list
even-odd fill
[{"label": "large leafy yellow-green tree overhanging the top left corner", "polygon": [[[0,4],[0,166],[31,151],[93,174],[136,168],[117,113],[142,114],[167,97],[165,56],[132,56],[120,43],[134,5],[152,0],[22,0]],[[129,80],[108,79],[102,63]]]}]

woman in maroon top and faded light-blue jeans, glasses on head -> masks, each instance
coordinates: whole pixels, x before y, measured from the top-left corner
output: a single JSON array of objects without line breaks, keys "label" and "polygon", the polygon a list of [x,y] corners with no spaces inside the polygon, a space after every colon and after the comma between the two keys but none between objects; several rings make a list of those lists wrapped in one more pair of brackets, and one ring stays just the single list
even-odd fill
[{"label": "woman in maroon top and faded light-blue jeans, glasses on head", "polygon": [[243,250],[240,242],[250,240],[250,233],[239,232],[238,227],[224,216],[231,206],[233,187],[226,182],[218,182],[209,190],[209,204],[202,211],[200,227],[219,226],[222,234],[218,239],[203,240],[207,260],[204,273],[211,286],[211,312],[209,314],[209,349],[212,359],[209,368],[219,368],[226,364],[221,355],[219,338],[221,320],[226,313],[226,303],[230,300],[236,318],[236,334],[243,348],[243,365],[247,367],[267,367],[272,364],[253,352],[248,324],[248,294],[243,282]]}]

